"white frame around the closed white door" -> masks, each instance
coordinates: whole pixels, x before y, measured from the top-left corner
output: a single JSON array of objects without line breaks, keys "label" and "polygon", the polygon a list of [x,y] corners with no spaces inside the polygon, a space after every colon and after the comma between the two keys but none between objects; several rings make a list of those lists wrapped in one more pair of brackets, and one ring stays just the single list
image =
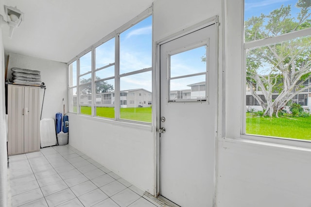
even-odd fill
[{"label": "white frame around the closed white door", "polygon": [[[218,61],[219,61],[219,20],[218,20],[218,16],[214,16],[214,17],[211,17],[209,19],[206,19],[204,21],[201,21],[197,24],[194,24],[188,28],[185,28],[183,29],[182,31],[179,31],[179,32],[176,32],[166,38],[163,38],[163,39],[160,39],[158,41],[155,42],[154,44],[154,47],[155,47],[155,70],[154,70],[154,82],[155,84],[153,84],[153,91],[157,92],[155,93],[155,96],[154,96],[154,102],[155,102],[155,111],[156,111],[156,119],[154,120],[155,122],[155,131],[156,131],[156,142],[155,142],[155,155],[156,155],[156,162],[155,162],[155,197],[159,197],[161,200],[165,200],[165,202],[167,202],[167,200],[163,197],[161,197],[161,194],[160,194],[160,133],[158,133],[158,129],[160,128],[160,46],[164,43],[167,43],[169,41],[172,41],[176,38],[180,38],[182,36],[185,36],[185,35],[188,35],[192,32],[195,32],[199,29],[202,29],[202,28],[205,28],[207,26],[210,26],[212,24],[216,24],[216,29],[215,29],[215,41],[216,41],[216,47],[215,47],[215,68],[217,70],[216,74],[219,76],[218,79],[222,78],[222,74],[220,74],[221,72],[219,72],[219,66],[218,66]],[[216,80],[216,87],[217,87],[217,91],[219,92],[220,91],[220,85],[219,85],[219,81]],[[221,87],[222,88],[222,87]],[[217,103],[219,103],[219,93],[217,93]],[[218,117],[220,115],[220,106],[216,106],[217,108],[217,114],[218,114]],[[220,120],[218,117],[215,117],[215,124],[216,124],[216,129],[217,129],[217,136],[219,136],[219,134],[221,133],[218,133],[220,132]],[[215,140],[215,153],[217,153],[217,141]],[[215,159],[216,159],[216,154],[215,154]],[[215,193],[214,193],[214,204],[213,206],[215,206],[215,196],[216,196],[216,162],[214,162],[215,166],[214,166],[214,190],[215,190]],[[170,203],[170,202],[169,202]]]}]

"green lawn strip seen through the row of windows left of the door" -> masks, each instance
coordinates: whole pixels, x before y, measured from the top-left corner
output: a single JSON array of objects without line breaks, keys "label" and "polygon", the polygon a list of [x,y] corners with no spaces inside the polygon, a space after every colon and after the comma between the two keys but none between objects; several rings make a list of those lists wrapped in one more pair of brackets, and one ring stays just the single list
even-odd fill
[{"label": "green lawn strip seen through the row of windows left of the door", "polygon": [[[151,111],[152,111],[151,107],[121,108],[120,118],[151,123],[151,119],[152,119]],[[86,115],[91,115],[91,107],[81,106],[81,113],[86,114]],[[105,118],[114,118],[115,109],[112,107],[97,107],[96,116],[105,117]]]}]

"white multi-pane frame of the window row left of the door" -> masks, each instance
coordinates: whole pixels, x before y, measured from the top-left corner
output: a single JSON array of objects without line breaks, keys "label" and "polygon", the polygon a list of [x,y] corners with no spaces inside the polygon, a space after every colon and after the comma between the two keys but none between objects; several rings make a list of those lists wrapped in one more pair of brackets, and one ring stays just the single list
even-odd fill
[{"label": "white multi-pane frame of the window row left of the door", "polygon": [[[92,111],[92,114],[91,114],[91,117],[96,117],[96,118],[100,118],[100,119],[108,119],[109,121],[111,121],[110,118],[105,118],[105,117],[98,117],[98,116],[95,116],[95,107],[98,107],[100,105],[96,105],[96,91],[95,91],[95,82],[98,82],[98,81],[102,81],[102,80],[108,80],[108,79],[111,79],[111,78],[114,78],[115,79],[115,100],[114,100],[114,105],[115,105],[115,118],[113,121],[119,121],[120,122],[127,122],[127,123],[133,123],[133,124],[136,124],[135,126],[137,126],[137,124],[140,124],[140,125],[145,125],[145,126],[151,126],[153,123],[147,123],[147,122],[140,122],[140,121],[133,121],[133,120],[125,120],[125,119],[120,119],[120,78],[123,77],[123,76],[127,76],[127,75],[135,75],[135,74],[139,74],[139,73],[144,73],[144,72],[149,72],[151,71],[152,73],[152,84],[154,83],[154,44],[153,44],[153,35],[152,35],[152,51],[151,51],[151,54],[152,54],[152,67],[150,68],[145,68],[145,69],[138,69],[137,71],[133,71],[133,72],[130,72],[130,73],[126,73],[126,74],[120,74],[120,34],[124,31],[126,31],[127,29],[131,28],[133,25],[139,23],[140,21],[150,17],[150,16],[153,16],[153,5],[151,7],[149,7],[148,9],[146,9],[145,11],[143,11],[141,14],[139,14],[136,18],[130,20],[129,22],[125,23],[124,25],[122,25],[120,28],[116,29],[114,32],[110,33],[109,35],[107,35],[106,37],[102,38],[100,41],[96,42],[95,44],[91,45],[89,48],[87,48],[85,51],[81,52],[79,55],[77,55],[76,57],[74,57],[73,59],[71,59],[67,65],[68,65],[68,71],[69,71],[69,65],[71,63],[73,63],[74,61],[77,61],[77,86],[74,86],[74,87],[69,87],[69,84],[68,84],[68,90],[70,90],[71,88],[77,88],[77,113],[78,115],[86,115],[86,114],[81,114],[81,109],[80,109],[80,106],[91,106],[91,111]],[[152,27],[153,27],[153,18],[152,18]],[[96,47],[102,45],[103,43],[109,41],[110,39],[112,38],[115,38],[115,63],[114,64],[110,64],[109,66],[111,65],[115,65],[115,76],[114,77],[107,77],[107,78],[104,78],[104,79],[101,79],[101,80],[95,80],[95,71],[98,71],[100,69],[103,69],[104,67],[108,67],[108,66],[104,66],[103,68],[100,68],[100,69],[95,69],[95,49]],[[91,72],[87,72],[85,74],[82,74],[82,75],[79,75],[79,69],[80,69],[80,62],[79,62],[79,59],[80,57],[84,56],[86,53],[88,53],[89,51],[91,51],[92,53],[92,66],[91,66]],[[83,75],[86,75],[86,74],[89,74],[91,73],[91,77],[92,77],[92,80],[91,80],[91,87],[92,87],[92,103],[91,105],[89,104],[80,104],[80,92],[79,92],[79,77],[83,76]],[[89,83],[87,83],[89,84]],[[82,84],[82,85],[86,85],[86,84]],[[153,86],[152,86],[153,87]],[[154,87],[153,87],[154,88]],[[154,96],[153,96],[154,98]],[[154,111],[154,110],[153,110]],[[154,122],[155,118],[154,118],[154,112],[152,111],[152,122]],[[69,113],[73,113],[73,112],[69,112]],[[75,114],[75,113],[73,113]],[[86,115],[88,116],[88,115]],[[110,123],[110,122],[109,122]],[[144,128],[142,126],[142,128]],[[148,127],[148,129],[150,129]]]}]

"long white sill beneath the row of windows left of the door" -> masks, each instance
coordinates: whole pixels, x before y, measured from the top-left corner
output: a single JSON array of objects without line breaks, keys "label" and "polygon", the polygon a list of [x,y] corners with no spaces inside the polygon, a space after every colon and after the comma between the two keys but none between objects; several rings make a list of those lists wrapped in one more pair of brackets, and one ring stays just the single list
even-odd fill
[{"label": "long white sill beneath the row of windows left of the door", "polygon": [[[77,114],[77,113],[66,113],[69,115],[69,117],[77,116],[79,118],[85,118],[93,121],[103,122],[107,124],[111,124],[114,126],[121,126],[121,127],[127,127],[127,128],[135,128],[147,132],[154,132],[154,127],[151,126],[151,124],[140,124],[140,123],[133,123],[131,121],[123,121],[123,120],[112,120],[112,119],[105,119],[100,117],[94,117],[89,115],[83,115],[83,114]],[[70,121],[70,119],[69,119]]]}]

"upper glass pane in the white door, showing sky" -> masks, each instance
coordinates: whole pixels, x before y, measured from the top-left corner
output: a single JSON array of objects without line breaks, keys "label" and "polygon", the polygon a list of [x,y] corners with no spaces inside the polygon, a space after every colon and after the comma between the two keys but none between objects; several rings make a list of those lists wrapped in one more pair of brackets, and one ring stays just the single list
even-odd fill
[{"label": "upper glass pane in the white door, showing sky", "polygon": [[206,46],[171,56],[171,77],[206,72]]}]

